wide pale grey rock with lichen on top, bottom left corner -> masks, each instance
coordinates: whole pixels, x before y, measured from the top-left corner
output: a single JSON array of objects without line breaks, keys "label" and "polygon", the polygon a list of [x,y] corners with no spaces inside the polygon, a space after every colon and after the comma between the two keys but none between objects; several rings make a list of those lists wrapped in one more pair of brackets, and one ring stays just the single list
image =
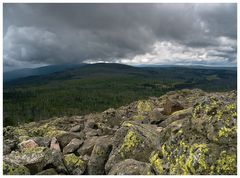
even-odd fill
[{"label": "wide pale grey rock with lichen on top, bottom left corner", "polygon": [[11,152],[11,154],[4,156],[3,160],[8,164],[25,166],[31,174],[36,174],[49,165],[55,167],[58,172],[66,172],[61,153],[45,147]]}]

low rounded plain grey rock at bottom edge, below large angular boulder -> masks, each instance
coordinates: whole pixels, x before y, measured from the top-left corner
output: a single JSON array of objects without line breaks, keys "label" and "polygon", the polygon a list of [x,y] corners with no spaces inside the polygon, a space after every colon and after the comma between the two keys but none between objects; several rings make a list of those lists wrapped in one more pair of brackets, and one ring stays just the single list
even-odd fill
[{"label": "low rounded plain grey rock at bottom edge, below large angular boulder", "polygon": [[114,165],[108,175],[154,175],[154,172],[148,163],[126,159]]}]

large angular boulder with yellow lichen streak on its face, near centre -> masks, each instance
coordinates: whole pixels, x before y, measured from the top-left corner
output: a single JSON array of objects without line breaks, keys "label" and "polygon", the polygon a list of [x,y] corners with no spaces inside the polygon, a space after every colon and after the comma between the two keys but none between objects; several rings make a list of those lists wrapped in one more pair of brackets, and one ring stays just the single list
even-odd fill
[{"label": "large angular boulder with yellow lichen streak on its face, near centre", "polygon": [[156,126],[124,122],[114,135],[113,149],[105,166],[106,172],[124,159],[147,162],[152,150],[159,145],[158,135]]}]

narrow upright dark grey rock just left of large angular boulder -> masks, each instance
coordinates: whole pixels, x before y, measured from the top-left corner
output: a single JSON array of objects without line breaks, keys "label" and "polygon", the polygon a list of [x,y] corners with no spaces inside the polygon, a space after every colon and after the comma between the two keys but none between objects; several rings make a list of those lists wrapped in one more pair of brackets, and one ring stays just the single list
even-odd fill
[{"label": "narrow upright dark grey rock just left of large angular boulder", "polygon": [[101,142],[97,142],[88,161],[88,174],[89,175],[103,175],[105,174],[105,163],[108,159],[112,148],[112,143],[109,138],[102,139]]}]

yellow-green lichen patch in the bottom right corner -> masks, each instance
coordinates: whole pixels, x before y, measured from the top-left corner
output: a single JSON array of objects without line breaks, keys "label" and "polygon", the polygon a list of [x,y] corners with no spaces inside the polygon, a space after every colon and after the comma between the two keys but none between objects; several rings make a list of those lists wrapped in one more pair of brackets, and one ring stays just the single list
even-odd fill
[{"label": "yellow-green lichen patch in the bottom right corner", "polygon": [[237,174],[236,154],[227,154],[222,151],[216,165],[217,174],[235,175]]}]

